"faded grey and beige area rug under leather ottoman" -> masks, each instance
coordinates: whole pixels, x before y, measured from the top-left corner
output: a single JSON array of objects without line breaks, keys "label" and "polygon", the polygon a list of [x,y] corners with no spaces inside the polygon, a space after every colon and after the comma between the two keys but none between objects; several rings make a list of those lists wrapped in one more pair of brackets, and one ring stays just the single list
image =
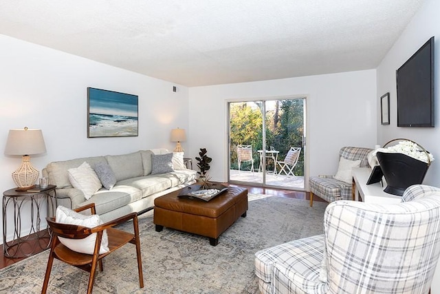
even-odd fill
[{"label": "faded grey and beige area rug under leather ottoman", "polygon": [[[139,288],[135,246],[104,258],[94,293],[258,293],[254,253],[322,233],[327,203],[254,194],[246,218],[239,218],[210,246],[208,238],[165,228],[140,216],[144,288]],[[130,231],[127,222],[118,227]],[[0,293],[41,293],[48,251],[0,271]],[[88,273],[54,261],[48,293],[85,293]]]}]

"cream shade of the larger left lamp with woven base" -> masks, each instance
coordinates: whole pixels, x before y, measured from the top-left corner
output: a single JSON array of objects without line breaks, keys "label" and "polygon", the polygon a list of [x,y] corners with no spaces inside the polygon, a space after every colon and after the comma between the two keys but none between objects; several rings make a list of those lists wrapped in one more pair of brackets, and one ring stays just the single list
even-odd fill
[{"label": "cream shade of the larger left lamp with woven base", "polygon": [[46,152],[41,129],[10,129],[6,141],[5,154],[31,155]]}]

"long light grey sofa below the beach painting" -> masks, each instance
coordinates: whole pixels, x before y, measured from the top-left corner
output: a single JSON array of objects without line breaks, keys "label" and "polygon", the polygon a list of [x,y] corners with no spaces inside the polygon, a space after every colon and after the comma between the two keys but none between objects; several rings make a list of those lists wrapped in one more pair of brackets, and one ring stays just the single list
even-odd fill
[{"label": "long light grey sofa below the beach painting", "polygon": [[[153,156],[170,153],[166,149],[140,150],[131,154],[96,156],[50,162],[42,171],[51,185],[56,185],[57,204],[76,209],[95,203],[96,213],[103,222],[113,220],[133,211],[144,212],[153,207],[155,198],[195,182],[196,171],[186,169],[173,157],[174,171],[151,174]],[[181,154],[180,160],[183,160]],[[96,164],[108,164],[116,183],[111,189],[102,187],[89,199],[81,189],[74,188],[68,170],[87,162],[93,169]],[[157,163],[155,163],[157,164]]]}]

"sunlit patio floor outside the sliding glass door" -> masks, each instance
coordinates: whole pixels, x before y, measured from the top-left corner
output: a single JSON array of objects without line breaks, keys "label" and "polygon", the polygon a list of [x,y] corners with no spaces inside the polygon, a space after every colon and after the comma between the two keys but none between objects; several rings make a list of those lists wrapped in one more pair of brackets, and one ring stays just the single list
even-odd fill
[{"label": "sunlit patio floor outside the sliding glass door", "polygon": [[[238,171],[230,169],[230,180],[238,182],[263,183],[262,171]],[[272,172],[266,172],[266,185],[277,187],[288,187],[296,189],[304,189],[303,176],[285,176],[274,175]]]}]

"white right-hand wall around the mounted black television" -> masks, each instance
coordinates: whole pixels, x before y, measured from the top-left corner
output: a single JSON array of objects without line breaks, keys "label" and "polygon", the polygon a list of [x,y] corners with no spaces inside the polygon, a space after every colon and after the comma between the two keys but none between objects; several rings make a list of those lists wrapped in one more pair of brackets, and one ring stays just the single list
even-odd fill
[{"label": "white right-hand wall around the mounted black television", "polygon": [[[421,7],[419,12],[408,24],[406,30],[393,45],[393,48],[386,54],[385,58],[377,67],[377,101],[379,97],[390,92],[391,124],[377,126],[377,142],[384,145],[393,138],[408,138],[419,143],[430,151],[434,160],[424,184],[440,187],[440,21],[438,12],[440,11],[440,1],[428,0]],[[435,126],[434,128],[413,128],[397,127],[397,96],[395,71],[405,63],[428,39],[434,36],[434,74],[435,74]],[[380,113],[380,103],[377,105],[377,112]]]}]

